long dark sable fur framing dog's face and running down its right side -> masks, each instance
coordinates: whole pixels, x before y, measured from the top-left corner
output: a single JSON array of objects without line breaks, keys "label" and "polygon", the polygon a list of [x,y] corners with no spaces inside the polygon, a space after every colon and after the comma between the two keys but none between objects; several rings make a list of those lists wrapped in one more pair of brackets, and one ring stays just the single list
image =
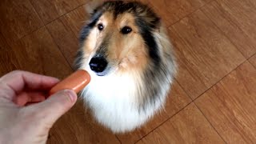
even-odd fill
[{"label": "long dark sable fur framing dog's face and running down its right side", "polygon": [[[172,45],[162,21],[148,6],[139,2],[110,1],[104,2],[91,11],[90,20],[82,28],[81,49],[78,50],[74,62],[75,68],[81,68],[84,55],[83,43],[90,34],[90,30],[106,11],[111,11],[114,18],[118,14],[134,14],[135,23],[139,27],[139,33],[142,35],[150,56],[150,62],[141,74],[140,81],[142,82],[138,82],[138,113],[148,113],[148,109],[157,111],[165,103],[177,66]],[[149,114],[149,117],[151,115]]]}]

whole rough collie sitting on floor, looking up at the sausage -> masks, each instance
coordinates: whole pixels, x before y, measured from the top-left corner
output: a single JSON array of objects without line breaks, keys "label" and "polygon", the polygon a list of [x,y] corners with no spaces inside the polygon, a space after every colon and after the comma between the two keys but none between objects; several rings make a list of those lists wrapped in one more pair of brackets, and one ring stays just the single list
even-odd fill
[{"label": "whole rough collie sitting on floor, looking up at the sausage", "polygon": [[160,18],[139,2],[97,6],[82,28],[76,69],[91,81],[81,96],[114,133],[142,126],[163,106],[176,66]]}]

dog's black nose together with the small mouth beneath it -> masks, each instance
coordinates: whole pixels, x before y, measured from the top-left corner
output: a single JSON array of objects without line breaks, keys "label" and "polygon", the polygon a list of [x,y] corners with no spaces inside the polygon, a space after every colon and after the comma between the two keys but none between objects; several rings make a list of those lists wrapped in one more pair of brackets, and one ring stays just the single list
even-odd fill
[{"label": "dog's black nose together with the small mouth beneath it", "polygon": [[98,76],[105,76],[110,70],[110,66],[106,58],[100,54],[97,54],[90,59],[89,66],[90,70],[94,71]]}]

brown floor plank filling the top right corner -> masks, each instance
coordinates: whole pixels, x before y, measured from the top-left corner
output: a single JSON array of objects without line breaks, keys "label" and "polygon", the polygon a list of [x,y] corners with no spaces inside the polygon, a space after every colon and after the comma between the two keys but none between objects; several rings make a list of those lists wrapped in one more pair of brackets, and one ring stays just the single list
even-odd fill
[{"label": "brown floor plank filling the top right corner", "polygon": [[218,0],[202,11],[226,34],[246,58],[256,53],[256,10],[249,0]]}]

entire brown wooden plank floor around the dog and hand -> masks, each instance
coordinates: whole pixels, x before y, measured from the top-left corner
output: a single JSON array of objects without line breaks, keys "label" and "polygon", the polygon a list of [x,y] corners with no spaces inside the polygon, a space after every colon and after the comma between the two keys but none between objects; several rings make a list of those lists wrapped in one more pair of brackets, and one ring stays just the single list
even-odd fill
[{"label": "entire brown wooden plank floor around the dog and hand", "polygon": [[[0,74],[64,78],[86,0],[1,0]],[[146,1],[168,26],[179,72],[165,110],[130,134],[111,134],[78,102],[48,143],[255,143],[256,1]]]}]

